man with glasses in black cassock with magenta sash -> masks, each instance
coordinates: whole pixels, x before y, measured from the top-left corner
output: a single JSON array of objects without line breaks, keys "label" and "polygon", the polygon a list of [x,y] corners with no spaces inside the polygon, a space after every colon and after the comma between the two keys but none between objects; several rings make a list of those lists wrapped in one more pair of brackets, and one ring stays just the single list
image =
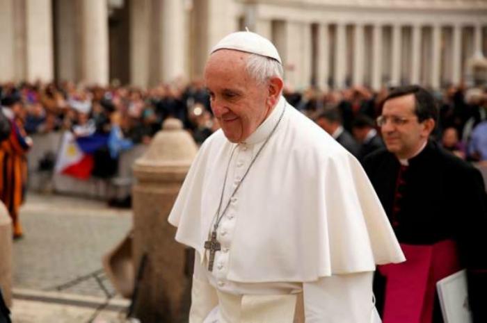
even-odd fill
[{"label": "man with glasses in black cassock with magenta sash", "polygon": [[487,322],[487,208],[480,173],[429,139],[438,108],[417,85],[396,88],[377,124],[386,149],[364,167],[406,262],[378,266],[374,279],[384,323],[443,322],[436,282],[467,269],[473,322]]}]

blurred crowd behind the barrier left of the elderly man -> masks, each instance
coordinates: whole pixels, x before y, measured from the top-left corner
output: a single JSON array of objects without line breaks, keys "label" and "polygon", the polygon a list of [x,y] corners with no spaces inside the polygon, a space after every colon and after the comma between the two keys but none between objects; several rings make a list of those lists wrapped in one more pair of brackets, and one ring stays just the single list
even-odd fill
[{"label": "blurred crowd behind the barrier left of the elderly man", "polygon": [[20,118],[29,134],[71,130],[79,137],[109,133],[116,124],[134,144],[147,144],[164,119],[176,117],[202,142],[213,127],[208,97],[200,82],[147,90],[70,82],[7,83],[0,85],[0,91],[1,97],[20,97],[24,106]]}]

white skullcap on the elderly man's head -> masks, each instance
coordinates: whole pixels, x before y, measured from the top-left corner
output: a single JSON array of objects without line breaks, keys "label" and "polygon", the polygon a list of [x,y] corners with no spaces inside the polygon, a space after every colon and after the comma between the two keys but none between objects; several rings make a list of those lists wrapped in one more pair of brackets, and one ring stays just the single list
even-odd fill
[{"label": "white skullcap on the elderly man's head", "polygon": [[282,64],[278,50],[272,42],[251,31],[237,31],[237,33],[225,36],[211,49],[211,53],[219,49],[234,49],[236,51],[245,51],[246,53],[255,53],[260,56],[273,58]]}]

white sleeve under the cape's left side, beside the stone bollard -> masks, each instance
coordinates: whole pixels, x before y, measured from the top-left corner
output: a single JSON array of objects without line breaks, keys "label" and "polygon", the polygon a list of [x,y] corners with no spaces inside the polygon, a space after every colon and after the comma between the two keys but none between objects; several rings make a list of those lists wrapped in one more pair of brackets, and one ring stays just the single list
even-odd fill
[{"label": "white sleeve under the cape's left side, beside the stone bollard", "polygon": [[218,296],[216,295],[216,290],[209,284],[206,268],[201,264],[198,252],[195,252],[189,323],[204,322],[211,310],[217,305]]}]

